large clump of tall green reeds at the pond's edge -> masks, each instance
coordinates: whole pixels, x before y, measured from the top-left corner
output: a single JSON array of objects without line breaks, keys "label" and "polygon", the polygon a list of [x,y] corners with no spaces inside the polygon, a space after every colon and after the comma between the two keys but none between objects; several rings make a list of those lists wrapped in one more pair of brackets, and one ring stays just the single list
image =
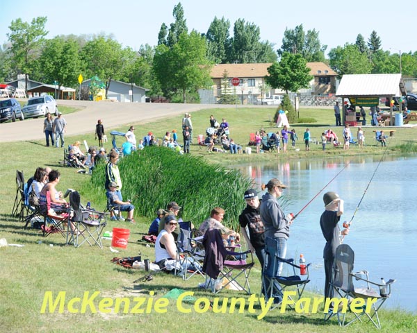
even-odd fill
[{"label": "large clump of tall green reeds at the pond's edge", "polygon": [[[179,155],[164,147],[147,147],[123,157],[118,165],[124,200],[131,199],[136,214],[149,219],[154,218],[159,208],[177,201],[184,221],[193,221],[198,226],[213,207],[220,206],[226,211],[224,224],[238,228],[238,216],[245,207],[243,192],[252,187],[252,180],[239,171],[208,164],[202,157]],[[102,164],[85,185],[85,195],[105,203],[104,180]]]}]

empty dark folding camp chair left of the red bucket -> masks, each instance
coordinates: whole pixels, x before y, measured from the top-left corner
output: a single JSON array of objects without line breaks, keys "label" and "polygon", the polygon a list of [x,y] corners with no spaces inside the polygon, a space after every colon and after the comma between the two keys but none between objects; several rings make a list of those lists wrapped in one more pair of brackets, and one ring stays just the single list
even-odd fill
[{"label": "empty dark folding camp chair left of the red bucket", "polygon": [[[80,195],[77,191],[70,194],[71,222],[67,225],[67,245],[74,244],[76,248],[85,242],[93,246],[101,244],[101,232],[106,226],[108,213],[96,212],[82,207]],[[71,225],[72,223],[72,225]]]}]

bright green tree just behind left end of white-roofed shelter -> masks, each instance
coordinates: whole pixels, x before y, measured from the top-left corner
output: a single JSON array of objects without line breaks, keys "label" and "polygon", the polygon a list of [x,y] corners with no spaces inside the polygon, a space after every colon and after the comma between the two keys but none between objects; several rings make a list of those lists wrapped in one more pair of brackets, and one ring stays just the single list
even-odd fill
[{"label": "bright green tree just behind left end of white-roofed shelter", "polygon": [[330,50],[329,64],[339,77],[344,74],[370,74],[372,70],[367,54],[361,53],[355,44],[345,44]]}]

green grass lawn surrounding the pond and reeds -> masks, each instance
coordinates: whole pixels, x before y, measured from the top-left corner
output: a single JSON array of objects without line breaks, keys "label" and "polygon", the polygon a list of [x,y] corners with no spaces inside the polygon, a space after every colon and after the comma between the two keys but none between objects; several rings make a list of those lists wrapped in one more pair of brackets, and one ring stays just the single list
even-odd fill
[{"label": "green grass lawn surrounding the pond and reeds", "polygon": [[[302,109],[300,117],[314,118],[315,123],[300,123],[292,126],[296,129],[299,142],[297,148],[300,151],[288,149],[288,153],[262,153],[251,155],[231,155],[220,153],[207,153],[204,148],[197,146],[197,135],[204,134],[209,126],[209,116],[214,114],[220,120],[225,117],[229,121],[231,137],[237,143],[246,146],[249,133],[260,128],[267,132],[275,130],[270,119],[273,118],[275,108],[245,108],[245,109],[215,109],[202,110],[193,113],[194,144],[191,146],[193,155],[200,156],[209,162],[218,162],[223,166],[231,167],[240,162],[273,161],[281,159],[300,158],[325,158],[328,156],[342,155],[377,155],[384,150],[377,144],[373,130],[366,127],[366,146],[359,149],[351,146],[348,151],[341,148],[329,147],[321,150],[321,145],[312,145],[311,151],[303,150],[302,135],[306,127],[311,129],[313,137],[320,134],[334,123],[332,110]],[[66,113],[66,111],[65,111]],[[181,118],[173,117],[161,119],[153,123],[134,123],[138,139],[152,130],[157,137],[163,137],[165,131],[177,129],[181,131]],[[127,124],[126,124],[127,125]],[[125,130],[126,126],[120,127]],[[334,127],[333,127],[334,130]],[[395,128],[395,136],[389,138],[389,153],[412,153],[416,147],[416,128]],[[341,128],[337,128],[336,134],[341,136]],[[355,130],[352,130],[355,135]],[[75,140],[87,140],[88,144],[97,144],[94,133],[85,133],[77,137],[67,137],[68,144]],[[110,138],[109,138],[110,139]],[[181,138],[180,138],[181,141]],[[120,142],[121,144],[122,142]],[[111,143],[106,143],[106,148],[111,148]],[[261,313],[259,303],[256,303],[253,313],[249,307],[240,312],[232,309],[230,305],[224,308],[226,313],[218,313],[218,308],[194,309],[193,305],[183,303],[179,307],[174,300],[169,301],[165,310],[158,309],[158,298],[174,288],[184,289],[194,293],[194,297],[204,301],[216,300],[208,291],[197,289],[197,284],[202,278],[192,278],[184,282],[181,278],[172,275],[156,275],[150,282],[133,284],[133,281],[143,275],[142,271],[128,270],[111,263],[113,257],[135,256],[141,253],[142,258],[154,259],[154,248],[138,243],[142,234],[147,232],[149,219],[135,216],[136,225],[125,222],[109,222],[105,230],[113,227],[127,228],[130,230],[129,245],[120,249],[119,253],[112,253],[109,249],[111,241],[104,240],[104,248],[86,246],[80,248],[66,247],[65,239],[59,234],[51,234],[42,237],[38,230],[24,230],[23,223],[13,216],[13,203],[15,200],[15,175],[16,169],[23,170],[25,178],[33,175],[38,166],[49,166],[58,169],[62,175],[58,189],[65,191],[68,187],[80,189],[83,203],[90,198],[101,194],[92,194],[88,187],[90,176],[76,173],[76,169],[64,168],[60,164],[63,160],[63,150],[60,148],[47,148],[44,140],[33,142],[1,143],[2,163],[0,165],[0,238],[6,238],[10,244],[22,244],[23,248],[8,246],[0,248],[0,331],[1,332],[133,332],[145,330],[145,332],[369,332],[374,328],[370,323],[354,323],[350,327],[342,329],[336,321],[325,323],[322,314],[298,314],[287,310],[281,314],[279,309],[268,312],[265,317],[258,320],[256,316]],[[153,167],[153,166],[149,166]],[[104,194],[103,194],[104,195]],[[181,198],[178,198],[180,200]],[[92,207],[97,210],[104,209],[104,201],[90,200]],[[209,212],[207,212],[208,214]],[[261,270],[256,264],[251,273],[252,293],[259,296]],[[61,292],[61,293],[60,293]],[[95,292],[98,292],[98,294]],[[154,296],[149,293],[154,292]],[[53,297],[64,296],[65,299],[74,300],[73,307],[64,307],[60,311],[56,308],[54,313],[41,314],[45,295]],[[96,295],[96,308],[87,306],[85,311],[81,308],[81,300]],[[308,294],[307,296],[312,296]],[[122,311],[108,311],[108,308],[98,309],[99,300],[111,302],[117,298],[146,297],[147,309],[145,313],[131,314]],[[220,302],[228,302],[230,298],[240,297],[248,299],[243,293],[224,290],[218,294]],[[229,298],[227,300],[226,298]],[[110,304],[110,303],[108,303]],[[159,304],[159,303],[158,303]],[[50,309],[50,308],[47,308]],[[97,311],[95,311],[97,310]],[[190,313],[184,313],[190,311]],[[83,313],[84,312],[84,313]],[[199,313],[201,312],[201,313]],[[417,327],[416,316],[401,309],[380,311],[382,320],[381,332],[415,332]]]}]

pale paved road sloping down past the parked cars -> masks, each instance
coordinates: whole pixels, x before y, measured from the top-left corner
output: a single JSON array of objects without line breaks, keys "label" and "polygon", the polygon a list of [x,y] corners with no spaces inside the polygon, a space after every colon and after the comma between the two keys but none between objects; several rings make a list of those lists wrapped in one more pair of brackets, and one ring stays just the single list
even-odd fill
[{"label": "pale paved road sloping down past the parked cars", "polygon": [[[208,108],[219,108],[213,104],[171,104],[171,103],[117,103],[110,101],[58,101],[60,105],[82,109],[79,112],[63,114],[67,121],[66,135],[80,135],[93,132],[97,119],[102,119],[106,130],[130,123],[147,123],[161,117],[171,117],[185,112]],[[244,106],[244,105],[240,105]],[[246,105],[245,105],[246,106]],[[239,106],[238,106],[239,107]],[[221,105],[221,108],[235,108],[235,105]],[[17,120],[15,123],[1,123],[0,142],[14,142],[44,139],[44,118]]]}]

